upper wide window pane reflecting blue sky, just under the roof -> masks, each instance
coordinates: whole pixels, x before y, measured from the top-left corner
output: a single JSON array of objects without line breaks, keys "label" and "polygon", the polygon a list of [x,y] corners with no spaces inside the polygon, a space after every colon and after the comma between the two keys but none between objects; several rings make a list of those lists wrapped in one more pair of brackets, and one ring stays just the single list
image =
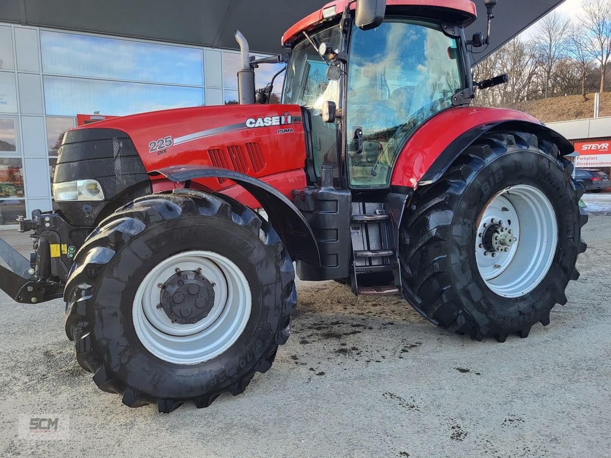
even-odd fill
[{"label": "upper wide window pane reflecting blue sky, just under the roof", "polygon": [[40,31],[43,72],[203,85],[201,49]]}]

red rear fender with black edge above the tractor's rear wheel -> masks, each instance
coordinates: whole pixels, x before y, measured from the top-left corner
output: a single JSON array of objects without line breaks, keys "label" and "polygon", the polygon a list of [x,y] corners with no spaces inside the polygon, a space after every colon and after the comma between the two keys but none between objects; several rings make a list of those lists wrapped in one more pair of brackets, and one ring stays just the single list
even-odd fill
[{"label": "red rear fender with black edge above the tractor's rear wheel", "polygon": [[409,138],[395,162],[390,184],[417,187],[439,180],[452,162],[492,129],[519,130],[552,140],[561,154],[573,145],[536,118],[514,110],[455,107],[434,116]]}]

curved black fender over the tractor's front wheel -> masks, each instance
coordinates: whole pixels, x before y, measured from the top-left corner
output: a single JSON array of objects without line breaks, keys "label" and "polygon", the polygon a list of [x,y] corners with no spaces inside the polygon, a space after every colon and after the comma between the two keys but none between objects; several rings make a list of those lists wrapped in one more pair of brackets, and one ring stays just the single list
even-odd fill
[{"label": "curved black fender over the tractor's front wheel", "polygon": [[320,266],[320,253],[312,228],[293,202],[269,184],[244,173],[206,165],[172,165],[156,170],[174,183],[198,178],[227,178],[242,186],[265,209],[269,222],[282,239],[293,260]]}]

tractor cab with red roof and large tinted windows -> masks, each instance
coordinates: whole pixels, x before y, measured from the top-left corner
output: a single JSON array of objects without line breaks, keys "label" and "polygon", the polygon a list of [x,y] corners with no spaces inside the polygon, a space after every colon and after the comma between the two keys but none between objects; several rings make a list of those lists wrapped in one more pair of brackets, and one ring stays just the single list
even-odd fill
[{"label": "tractor cab with red roof and large tinted windows", "polygon": [[470,1],[336,1],[287,31],[282,103],[304,107],[310,180],[334,165],[343,189],[387,189],[401,148],[426,120],[473,93],[463,27]]}]

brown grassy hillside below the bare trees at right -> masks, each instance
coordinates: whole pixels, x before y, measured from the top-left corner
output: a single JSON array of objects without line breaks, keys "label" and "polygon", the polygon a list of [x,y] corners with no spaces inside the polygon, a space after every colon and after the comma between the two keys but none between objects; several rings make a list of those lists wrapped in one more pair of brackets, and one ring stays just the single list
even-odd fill
[{"label": "brown grassy hillside below the bare trees at right", "polygon": [[[569,95],[514,103],[505,108],[524,111],[544,123],[592,118],[594,117],[594,94],[588,94],[587,97],[588,100],[585,102],[580,95]],[[611,92],[601,94],[599,116],[611,116]]]}]

